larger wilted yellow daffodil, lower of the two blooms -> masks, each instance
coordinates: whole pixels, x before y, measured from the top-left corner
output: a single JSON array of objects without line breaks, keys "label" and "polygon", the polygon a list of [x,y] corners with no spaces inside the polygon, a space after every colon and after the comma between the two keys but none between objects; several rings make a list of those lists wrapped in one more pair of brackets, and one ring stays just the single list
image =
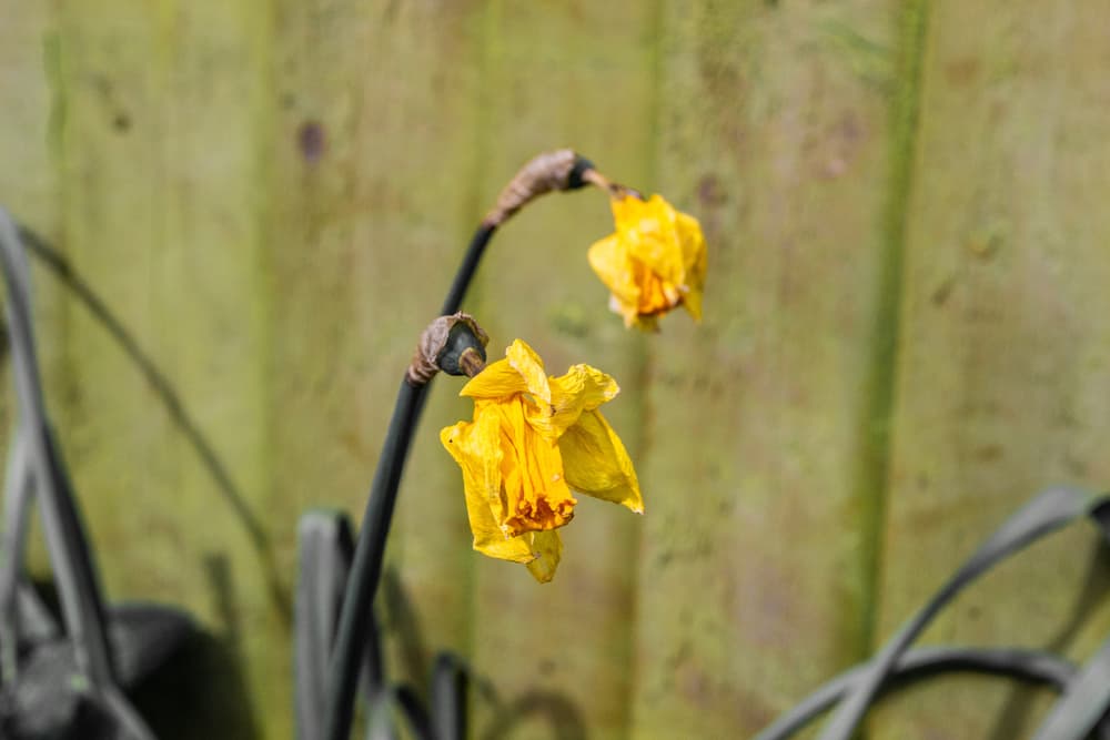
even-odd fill
[{"label": "larger wilted yellow daffodil, lower of the two blooms", "polygon": [[521,339],[463,387],[474,420],[440,439],[463,468],[474,549],[526,564],[546,582],[563,551],[558,528],[574,516],[572,491],[644,513],[628,453],[597,410],[619,391],[589,365],[547,376]]}]

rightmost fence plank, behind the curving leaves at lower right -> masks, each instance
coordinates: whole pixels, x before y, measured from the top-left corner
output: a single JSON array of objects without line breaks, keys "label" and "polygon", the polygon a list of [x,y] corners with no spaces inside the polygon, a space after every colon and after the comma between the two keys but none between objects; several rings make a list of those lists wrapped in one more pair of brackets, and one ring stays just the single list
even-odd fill
[{"label": "rightmost fence plank, behind the curving leaves at lower right", "polygon": [[[1093,2],[931,11],[881,635],[1036,491],[1110,476],[1106,21]],[[975,585],[926,640],[1082,657],[1110,626],[1103,571],[1093,534],[1069,530]],[[1046,698],[953,678],[884,704],[875,728],[1022,737]]]}]

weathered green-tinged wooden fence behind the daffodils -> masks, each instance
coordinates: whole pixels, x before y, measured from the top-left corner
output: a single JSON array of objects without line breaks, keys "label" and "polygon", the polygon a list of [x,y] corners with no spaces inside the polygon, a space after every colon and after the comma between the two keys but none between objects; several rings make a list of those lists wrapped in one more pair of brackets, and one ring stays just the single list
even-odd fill
[{"label": "weathered green-tinged wooden fence behind the daffodils", "polygon": [[[647,515],[582,501],[544,587],[472,553],[436,434],[470,412],[436,382],[380,606],[394,675],[471,660],[474,737],[745,737],[1036,490],[1106,486],[1108,21],[1091,0],[0,0],[0,203],[64,267],[36,267],[38,328],[108,591],[209,630],[143,699],[188,722],[155,729],[291,736],[297,515],[362,510],[415,337],[542,150],[700,219],[705,321],[639,336],[606,312],[596,192],[495,240],[468,308],[495,353],[522,337],[619,379]],[[927,638],[1080,658],[1110,629],[1106,565],[1069,530]],[[1047,696],[944,679],[871,728],[1012,738]]]}]

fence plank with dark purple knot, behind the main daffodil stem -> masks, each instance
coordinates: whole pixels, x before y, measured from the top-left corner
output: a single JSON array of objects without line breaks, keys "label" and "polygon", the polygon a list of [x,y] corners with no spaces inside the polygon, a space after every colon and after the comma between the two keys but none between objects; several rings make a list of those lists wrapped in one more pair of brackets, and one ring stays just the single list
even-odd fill
[{"label": "fence plank with dark purple knot, behind the main daffodil stem", "polygon": [[[476,4],[281,3],[271,407],[290,517],[362,516],[397,385],[481,215]],[[390,677],[420,689],[433,651],[470,639],[466,514],[438,442],[457,389],[434,382],[379,599]]]}]

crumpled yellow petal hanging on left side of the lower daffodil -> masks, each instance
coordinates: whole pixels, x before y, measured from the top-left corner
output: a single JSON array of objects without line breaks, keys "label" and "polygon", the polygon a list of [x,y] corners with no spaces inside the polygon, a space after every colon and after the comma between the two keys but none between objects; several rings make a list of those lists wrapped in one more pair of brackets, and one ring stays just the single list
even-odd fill
[{"label": "crumpled yellow petal hanging on left side of the lower daffodil", "polygon": [[[509,539],[497,524],[504,505],[501,498],[500,420],[480,414],[474,423],[460,422],[440,432],[440,440],[463,469],[466,515],[474,534],[474,549],[490,557],[514,562],[534,559],[528,543]],[[496,511],[496,514],[495,514]]]}]

